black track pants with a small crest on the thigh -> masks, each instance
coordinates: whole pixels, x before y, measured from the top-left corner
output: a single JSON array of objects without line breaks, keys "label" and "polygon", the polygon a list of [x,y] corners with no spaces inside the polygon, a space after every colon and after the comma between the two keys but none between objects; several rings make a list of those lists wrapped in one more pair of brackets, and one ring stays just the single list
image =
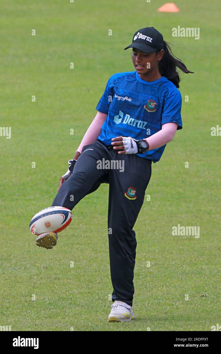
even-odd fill
[{"label": "black track pants with a small crest on the thigh", "polygon": [[[120,168],[97,168],[98,161],[102,161],[102,167],[105,167],[106,161],[111,160],[118,160],[112,167],[118,167],[119,163]],[[52,204],[72,210],[85,195],[98,189],[101,183],[109,183],[108,237],[111,281],[114,289],[112,301],[120,300],[130,306],[134,294],[133,277],[137,246],[133,226],[144,201],[145,190],[151,176],[151,163],[151,160],[134,154],[118,154],[116,150],[106,147],[100,141],[85,145],[72,175],[63,182]]]}]

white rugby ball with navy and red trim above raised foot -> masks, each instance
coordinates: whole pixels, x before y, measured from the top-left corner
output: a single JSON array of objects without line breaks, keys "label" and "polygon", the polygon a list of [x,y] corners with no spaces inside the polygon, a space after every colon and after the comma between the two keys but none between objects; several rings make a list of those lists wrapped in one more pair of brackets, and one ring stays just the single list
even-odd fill
[{"label": "white rugby ball with navy and red trim above raised foot", "polygon": [[29,229],[34,235],[45,232],[61,232],[72,220],[71,210],[63,206],[50,206],[40,210],[31,219]]}]

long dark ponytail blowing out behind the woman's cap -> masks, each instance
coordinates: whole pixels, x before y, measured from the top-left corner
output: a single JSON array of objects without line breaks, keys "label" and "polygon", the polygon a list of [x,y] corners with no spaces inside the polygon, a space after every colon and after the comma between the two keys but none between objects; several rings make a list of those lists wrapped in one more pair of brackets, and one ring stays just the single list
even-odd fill
[{"label": "long dark ponytail blowing out behind the woman's cap", "polygon": [[[161,76],[165,76],[168,80],[172,81],[172,83],[179,88],[179,82],[181,78],[179,76],[179,71],[182,71],[186,74],[193,74],[192,71],[189,71],[186,65],[181,61],[181,59],[175,57],[173,55],[169,44],[164,41],[164,56],[159,61],[159,72]],[[160,50],[156,51],[159,53]],[[179,69],[179,71],[177,70]]]}]

